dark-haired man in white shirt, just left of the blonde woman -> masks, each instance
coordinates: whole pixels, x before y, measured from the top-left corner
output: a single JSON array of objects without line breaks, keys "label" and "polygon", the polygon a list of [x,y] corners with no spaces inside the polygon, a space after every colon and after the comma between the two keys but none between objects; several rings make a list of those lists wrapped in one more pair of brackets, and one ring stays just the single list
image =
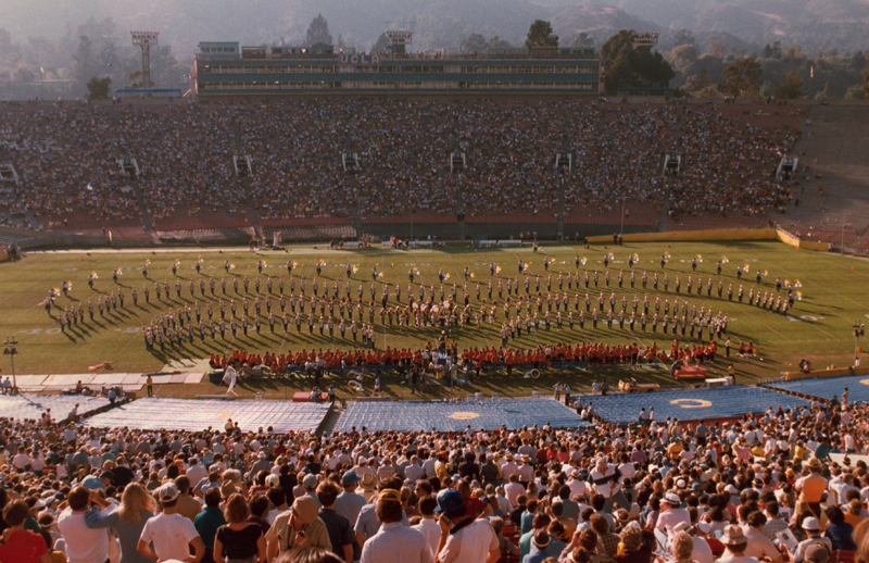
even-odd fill
[{"label": "dark-haired man in white shirt, just left of the blonde woman", "polygon": [[70,504],[58,517],[58,529],[66,543],[70,563],[105,563],[109,561],[109,535],[105,529],[91,529],[85,523],[90,508],[90,491],[76,487],[66,497]]}]

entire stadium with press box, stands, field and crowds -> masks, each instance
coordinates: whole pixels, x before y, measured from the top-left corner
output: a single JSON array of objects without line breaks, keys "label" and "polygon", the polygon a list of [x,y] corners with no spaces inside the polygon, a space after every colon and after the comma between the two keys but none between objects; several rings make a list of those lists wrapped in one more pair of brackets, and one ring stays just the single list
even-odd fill
[{"label": "entire stadium with press box, stands, field and crowds", "polygon": [[[89,561],[70,514],[142,489],[193,561],[443,560],[450,520],[395,542],[436,505],[461,561],[866,555],[865,104],[606,99],[588,49],[200,49],[193,98],[0,105],[12,533]],[[106,522],[100,563],[177,559]]]}]

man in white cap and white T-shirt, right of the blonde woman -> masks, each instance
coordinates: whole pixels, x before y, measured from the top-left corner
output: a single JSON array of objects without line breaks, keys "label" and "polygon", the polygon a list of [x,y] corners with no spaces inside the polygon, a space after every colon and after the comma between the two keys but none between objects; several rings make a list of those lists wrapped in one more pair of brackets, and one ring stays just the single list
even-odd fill
[{"label": "man in white cap and white T-shirt, right of the blonde woman", "polygon": [[[180,492],[174,483],[166,483],[156,491],[163,512],[144,523],[137,549],[148,559],[162,561],[177,559],[198,563],[205,554],[205,545],[189,518],[176,512]],[[150,542],[154,543],[152,550]],[[190,546],[194,555],[190,555]]]}]

